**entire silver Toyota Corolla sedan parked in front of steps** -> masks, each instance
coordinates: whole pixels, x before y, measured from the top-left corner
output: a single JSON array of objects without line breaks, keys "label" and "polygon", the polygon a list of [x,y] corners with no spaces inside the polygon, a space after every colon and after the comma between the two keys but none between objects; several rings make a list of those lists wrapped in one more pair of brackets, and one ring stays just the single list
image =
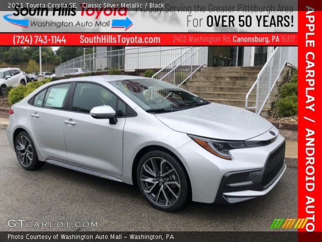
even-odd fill
[{"label": "entire silver Toyota Corolla sedan parked in front of steps", "polygon": [[47,162],[136,184],[164,211],[190,198],[229,204],[263,196],[286,169],[285,140],[266,119],[151,78],[60,80],[10,113],[9,143],[25,169]]}]

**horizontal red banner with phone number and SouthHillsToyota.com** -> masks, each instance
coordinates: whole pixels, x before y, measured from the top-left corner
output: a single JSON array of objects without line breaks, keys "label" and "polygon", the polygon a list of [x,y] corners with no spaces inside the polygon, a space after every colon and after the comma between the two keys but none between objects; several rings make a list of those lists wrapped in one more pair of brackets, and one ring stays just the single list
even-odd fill
[{"label": "horizontal red banner with phone number and SouthHillsToyota.com", "polygon": [[2,45],[297,45],[297,33],[0,33]]}]

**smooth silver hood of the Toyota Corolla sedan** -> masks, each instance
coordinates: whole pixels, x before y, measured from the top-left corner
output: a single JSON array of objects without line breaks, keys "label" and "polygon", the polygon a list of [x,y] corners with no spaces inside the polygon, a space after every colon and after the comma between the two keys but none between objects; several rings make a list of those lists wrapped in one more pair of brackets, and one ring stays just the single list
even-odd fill
[{"label": "smooth silver hood of the Toyota Corolla sedan", "polygon": [[155,116],[175,131],[222,140],[248,140],[273,126],[251,111],[218,103]]}]

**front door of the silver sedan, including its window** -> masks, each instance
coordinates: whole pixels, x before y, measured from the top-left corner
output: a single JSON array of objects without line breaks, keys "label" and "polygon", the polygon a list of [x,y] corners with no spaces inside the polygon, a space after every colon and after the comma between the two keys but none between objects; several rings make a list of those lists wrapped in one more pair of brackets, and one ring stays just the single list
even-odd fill
[{"label": "front door of the silver sedan, including its window", "polygon": [[[68,162],[100,172],[122,175],[123,129],[126,105],[95,83],[75,84],[64,117],[64,134]],[[117,112],[118,122],[96,119],[90,115],[95,106],[109,105]]]}]

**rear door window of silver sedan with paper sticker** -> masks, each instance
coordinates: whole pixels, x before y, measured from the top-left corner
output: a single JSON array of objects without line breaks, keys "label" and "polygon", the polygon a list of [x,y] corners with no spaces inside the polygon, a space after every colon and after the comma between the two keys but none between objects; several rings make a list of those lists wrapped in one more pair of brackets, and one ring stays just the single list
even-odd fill
[{"label": "rear door window of silver sedan with paper sticker", "polygon": [[70,84],[51,86],[47,89],[44,107],[63,109]]}]

